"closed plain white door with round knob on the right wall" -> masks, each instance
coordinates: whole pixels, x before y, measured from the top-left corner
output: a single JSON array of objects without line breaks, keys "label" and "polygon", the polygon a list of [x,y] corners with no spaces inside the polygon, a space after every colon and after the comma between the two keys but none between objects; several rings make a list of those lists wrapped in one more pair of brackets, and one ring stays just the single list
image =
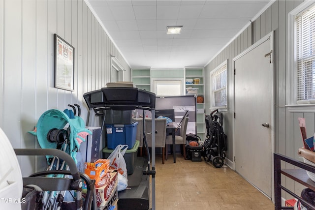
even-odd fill
[{"label": "closed plain white door with round knob on the right wall", "polygon": [[[272,196],[273,67],[271,38],[234,59],[235,170]],[[266,55],[267,54],[267,55]],[[269,127],[262,126],[268,123]]]}]

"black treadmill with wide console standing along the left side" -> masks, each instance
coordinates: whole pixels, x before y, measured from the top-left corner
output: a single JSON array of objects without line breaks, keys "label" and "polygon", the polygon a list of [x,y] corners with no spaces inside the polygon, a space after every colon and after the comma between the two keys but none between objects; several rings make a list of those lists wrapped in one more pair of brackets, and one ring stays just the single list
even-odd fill
[{"label": "black treadmill with wide console standing along the left side", "polygon": [[[153,92],[128,87],[107,87],[83,94],[91,112],[105,113],[105,110],[149,110],[155,119],[156,95]],[[144,116],[144,115],[143,115]],[[105,118],[106,116],[104,116]],[[136,157],[134,172],[128,175],[128,186],[118,192],[118,210],[155,210],[155,135],[152,135],[152,160],[144,132],[147,157]],[[104,124],[102,125],[104,126]],[[102,128],[103,129],[103,128]],[[155,120],[152,121],[155,130]]]}]

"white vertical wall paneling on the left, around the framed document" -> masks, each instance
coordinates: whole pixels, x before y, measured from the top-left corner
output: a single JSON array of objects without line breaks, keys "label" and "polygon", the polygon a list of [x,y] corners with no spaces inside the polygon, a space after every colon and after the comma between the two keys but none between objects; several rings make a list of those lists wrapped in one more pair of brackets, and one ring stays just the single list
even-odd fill
[{"label": "white vertical wall paneling on the left, around the framed document", "polygon": [[[54,88],[54,33],[75,48],[74,91]],[[130,67],[84,0],[0,0],[0,127],[14,148],[39,148],[28,133],[49,109],[77,103],[87,121],[83,93],[110,81],[110,55],[130,81]],[[44,158],[20,158],[24,176]]]}]

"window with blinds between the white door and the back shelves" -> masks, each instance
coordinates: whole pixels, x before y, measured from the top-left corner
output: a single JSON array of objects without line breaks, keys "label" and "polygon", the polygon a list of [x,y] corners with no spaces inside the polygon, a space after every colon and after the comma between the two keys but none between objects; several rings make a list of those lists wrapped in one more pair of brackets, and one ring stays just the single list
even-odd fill
[{"label": "window with blinds between the white door and the back shelves", "polygon": [[211,72],[211,108],[227,108],[227,60]]}]

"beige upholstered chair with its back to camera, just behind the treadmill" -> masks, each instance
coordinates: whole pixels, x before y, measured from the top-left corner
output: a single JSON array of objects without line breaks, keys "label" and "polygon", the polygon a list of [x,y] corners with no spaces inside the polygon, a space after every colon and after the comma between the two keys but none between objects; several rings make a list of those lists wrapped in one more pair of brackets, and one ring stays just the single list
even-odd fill
[{"label": "beige upholstered chair with its back to camera, just behind the treadmill", "polygon": [[155,119],[156,132],[152,131],[152,119],[146,118],[145,120],[145,133],[147,137],[148,147],[152,148],[152,133],[156,135],[156,148],[162,148],[162,164],[165,161],[165,141],[166,141],[166,119]]}]

